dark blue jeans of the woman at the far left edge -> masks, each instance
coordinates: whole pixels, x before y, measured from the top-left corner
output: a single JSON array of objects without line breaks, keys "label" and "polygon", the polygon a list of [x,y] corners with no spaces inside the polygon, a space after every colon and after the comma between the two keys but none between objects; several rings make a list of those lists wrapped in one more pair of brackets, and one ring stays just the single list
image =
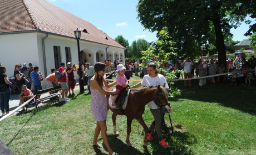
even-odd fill
[{"label": "dark blue jeans of the woman at the far left edge", "polygon": [[1,106],[2,113],[9,112],[10,97],[11,97],[11,91],[9,88],[4,92],[0,92],[0,106]]}]

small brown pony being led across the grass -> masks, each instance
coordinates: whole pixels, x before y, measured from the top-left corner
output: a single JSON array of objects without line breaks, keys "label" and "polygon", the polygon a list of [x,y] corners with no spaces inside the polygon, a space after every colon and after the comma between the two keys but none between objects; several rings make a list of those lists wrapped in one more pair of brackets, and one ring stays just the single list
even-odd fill
[{"label": "small brown pony being led across the grass", "polygon": [[116,130],[116,116],[126,115],[127,117],[127,136],[126,144],[131,146],[130,133],[131,133],[131,122],[134,118],[139,121],[141,126],[144,128],[144,146],[147,147],[147,132],[149,128],[145,124],[142,114],[145,111],[145,105],[150,101],[154,101],[157,106],[162,108],[165,112],[171,112],[170,104],[168,103],[168,91],[164,87],[157,85],[152,87],[144,87],[141,89],[131,89],[130,96],[127,102],[127,107],[124,110],[125,114],[119,109],[114,109],[109,106],[109,96],[107,96],[107,106],[113,112],[112,121],[114,126],[114,133],[119,135]]}]

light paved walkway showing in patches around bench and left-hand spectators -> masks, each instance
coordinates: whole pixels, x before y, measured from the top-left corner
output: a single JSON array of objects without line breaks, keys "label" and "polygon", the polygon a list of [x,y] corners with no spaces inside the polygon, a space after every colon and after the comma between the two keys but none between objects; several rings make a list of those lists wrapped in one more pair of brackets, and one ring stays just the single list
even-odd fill
[{"label": "light paved walkway showing in patches around bench and left-hand spectators", "polygon": [[[79,90],[78,82],[75,86],[74,91],[76,92],[77,90]],[[87,90],[87,86],[85,86],[85,90]],[[47,92],[46,94],[41,95],[41,97],[45,97],[45,96],[48,96],[48,95],[49,95],[49,93]],[[39,104],[38,106],[42,106],[42,105],[46,104],[47,102],[48,102],[48,100],[44,101],[43,103]],[[18,107],[18,105],[19,105],[19,94],[12,94],[11,98],[9,100],[9,111],[11,112],[11,111],[15,110]],[[28,110],[31,109],[31,108],[34,108],[34,106],[29,105]],[[21,111],[21,109],[18,110],[18,112],[19,111]]]}]

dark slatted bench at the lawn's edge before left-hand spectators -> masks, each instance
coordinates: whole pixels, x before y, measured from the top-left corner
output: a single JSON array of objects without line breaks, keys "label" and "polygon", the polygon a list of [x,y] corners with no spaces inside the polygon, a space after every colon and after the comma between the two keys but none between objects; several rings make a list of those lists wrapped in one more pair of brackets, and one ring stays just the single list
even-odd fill
[{"label": "dark slatted bench at the lawn's edge before left-hand spectators", "polygon": [[51,92],[51,91],[54,91],[54,90],[58,90],[58,89],[61,89],[61,86],[56,86],[56,87],[50,87],[50,88],[47,88],[47,89],[43,89],[43,90],[38,90],[37,91],[37,94],[35,96],[35,100],[31,100],[30,102],[28,102],[28,104],[25,106],[26,107],[26,113],[28,111],[28,106],[29,105],[33,105],[36,107],[36,109],[38,110],[37,108],[37,103],[38,102],[41,102],[41,101],[45,101],[45,100],[48,100],[48,99],[52,99],[52,100],[55,100],[55,101],[60,101],[61,100],[61,96],[59,93],[53,93],[53,94],[50,94],[48,96],[45,96],[45,97],[41,97],[40,99],[37,99],[37,96],[38,95],[42,95],[42,94],[45,94],[47,92]]}]

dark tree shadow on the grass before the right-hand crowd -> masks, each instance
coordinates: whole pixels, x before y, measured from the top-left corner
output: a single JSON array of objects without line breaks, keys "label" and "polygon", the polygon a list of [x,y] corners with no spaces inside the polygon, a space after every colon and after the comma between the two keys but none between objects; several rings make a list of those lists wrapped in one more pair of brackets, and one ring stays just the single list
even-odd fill
[{"label": "dark tree shadow on the grass before the right-hand crowd", "polygon": [[181,95],[171,101],[178,99],[196,100],[202,102],[217,102],[226,107],[256,115],[255,85],[240,86],[230,85],[229,81],[217,82],[216,86],[210,86],[206,80],[206,86],[200,87],[199,80],[192,80],[191,87],[184,87],[183,81],[176,81],[175,87],[180,89]]}]

